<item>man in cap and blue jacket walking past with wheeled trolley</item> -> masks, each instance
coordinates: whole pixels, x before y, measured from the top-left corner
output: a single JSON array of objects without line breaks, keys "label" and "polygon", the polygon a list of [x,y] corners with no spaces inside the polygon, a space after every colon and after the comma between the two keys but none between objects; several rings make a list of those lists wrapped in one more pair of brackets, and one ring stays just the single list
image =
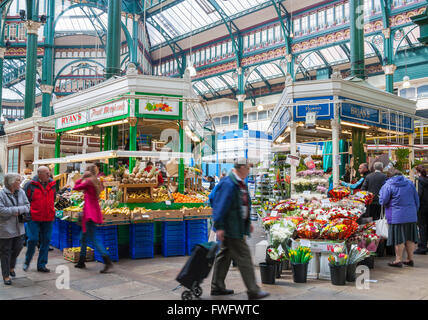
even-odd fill
[{"label": "man in cap and blue jacket walking past with wheeled trolley", "polygon": [[220,180],[213,199],[213,220],[217,240],[221,241],[220,251],[214,263],[211,295],[233,294],[226,289],[224,280],[232,259],[247,287],[249,299],[261,299],[269,293],[260,290],[256,283],[251,252],[245,240],[253,231],[250,221],[251,199],[245,178],[250,172],[246,160],[237,162],[229,176]]}]

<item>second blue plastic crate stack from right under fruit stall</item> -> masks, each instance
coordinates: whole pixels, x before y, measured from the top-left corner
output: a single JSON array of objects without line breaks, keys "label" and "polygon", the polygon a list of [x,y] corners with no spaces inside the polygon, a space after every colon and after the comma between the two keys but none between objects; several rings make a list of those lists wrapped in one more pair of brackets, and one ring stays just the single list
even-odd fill
[{"label": "second blue plastic crate stack from right under fruit stall", "polygon": [[186,254],[186,226],[184,221],[162,222],[162,255],[164,257]]}]

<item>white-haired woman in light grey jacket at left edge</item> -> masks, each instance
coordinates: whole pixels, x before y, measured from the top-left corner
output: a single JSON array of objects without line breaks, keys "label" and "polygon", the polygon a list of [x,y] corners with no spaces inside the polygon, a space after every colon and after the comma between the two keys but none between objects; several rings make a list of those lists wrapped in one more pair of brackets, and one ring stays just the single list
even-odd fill
[{"label": "white-haired woman in light grey jacket at left edge", "polygon": [[23,215],[30,212],[30,203],[20,184],[19,174],[8,173],[0,190],[0,259],[5,285],[12,284],[10,276],[15,277],[16,258],[22,250],[25,233]]}]

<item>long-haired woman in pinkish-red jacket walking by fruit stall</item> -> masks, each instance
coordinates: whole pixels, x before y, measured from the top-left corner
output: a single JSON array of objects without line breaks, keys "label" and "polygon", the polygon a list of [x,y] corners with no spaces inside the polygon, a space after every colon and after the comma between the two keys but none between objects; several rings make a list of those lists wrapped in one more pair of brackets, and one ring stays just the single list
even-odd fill
[{"label": "long-haired woman in pinkish-red jacket walking by fruit stall", "polygon": [[103,223],[101,208],[98,203],[100,193],[103,189],[101,182],[97,179],[98,168],[96,165],[89,165],[86,168],[83,178],[76,181],[74,190],[83,190],[85,193],[85,205],[83,206],[82,234],[79,262],[76,268],[85,268],[86,245],[89,239],[95,246],[95,249],[101,253],[104,260],[104,269],[101,273],[107,272],[112,266],[112,262],[106,249],[98,242],[95,235],[96,224]]}]

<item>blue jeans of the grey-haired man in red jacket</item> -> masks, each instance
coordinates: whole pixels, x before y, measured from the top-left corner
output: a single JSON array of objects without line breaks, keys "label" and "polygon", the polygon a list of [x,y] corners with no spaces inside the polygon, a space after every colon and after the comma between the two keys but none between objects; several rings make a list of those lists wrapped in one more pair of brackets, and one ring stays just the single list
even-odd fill
[{"label": "blue jeans of the grey-haired man in red jacket", "polygon": [[[27,233],[27,253],[25,255],[25,264],[30,265],[36,251],[37,243],[40,240],[39,258],[37,259],[37,269],[45,268],[48,263],[49,243],[52,238],[53,221],[30,221],[25,225]],[[40,235],[40,239],[39,239]]]}]

